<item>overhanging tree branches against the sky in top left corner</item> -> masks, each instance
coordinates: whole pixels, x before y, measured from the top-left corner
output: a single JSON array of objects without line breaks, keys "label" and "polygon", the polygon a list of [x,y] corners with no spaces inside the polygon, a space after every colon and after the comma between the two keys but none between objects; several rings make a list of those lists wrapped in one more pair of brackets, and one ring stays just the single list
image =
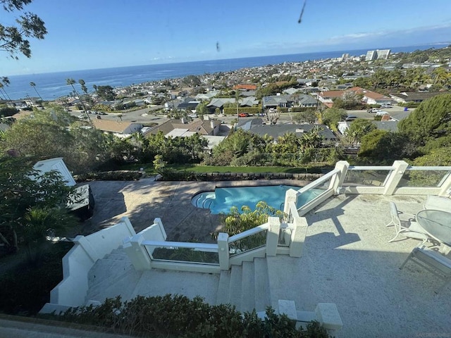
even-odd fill
[{"label": "overhanging tree branches against the sky in top left corner", "polygon": [[[5,11],[23,11],[23,7],[32,0],[0,0]],[[6,51],[12,58],[18,58],[20,53],[27,58],[31,56],[29,38],[44,39],[47,29],[44,21],[36,14],[24,12],[16,19],[18,25],[5,26],[0,24],[0,50]]]}]

